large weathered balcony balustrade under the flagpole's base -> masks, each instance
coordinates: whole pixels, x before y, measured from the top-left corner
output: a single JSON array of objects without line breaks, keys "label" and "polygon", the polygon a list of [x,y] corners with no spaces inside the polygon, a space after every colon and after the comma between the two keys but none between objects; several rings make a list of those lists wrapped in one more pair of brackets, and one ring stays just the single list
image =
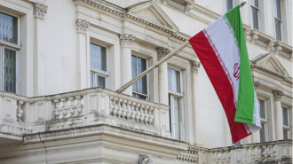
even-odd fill
[{"label": "large weathered balcony balustrade under the flagpole's base", "polygon": [[0,144],[42,132],[108,125],[170,138],[169,106],[101,88],[26,98],[0,91]]}]

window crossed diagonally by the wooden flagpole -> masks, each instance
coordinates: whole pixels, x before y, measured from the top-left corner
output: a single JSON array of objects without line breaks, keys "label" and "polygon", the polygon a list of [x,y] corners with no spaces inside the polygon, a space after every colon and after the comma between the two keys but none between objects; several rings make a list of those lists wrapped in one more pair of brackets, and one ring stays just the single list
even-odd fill
[{"label": "window crossed diagonally by the wooden flagpole", "polygon": [[[132,79],[147,69],[147,59],[131,56]],[[132,84],[132,96],[135,98],[147,99],[147,75]]]}]

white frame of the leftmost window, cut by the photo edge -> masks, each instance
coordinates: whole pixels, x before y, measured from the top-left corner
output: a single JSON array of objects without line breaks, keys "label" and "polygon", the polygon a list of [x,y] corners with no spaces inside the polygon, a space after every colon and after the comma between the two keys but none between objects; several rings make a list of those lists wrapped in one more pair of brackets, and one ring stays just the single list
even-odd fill
[{"label": "white frame of the leftmost window, cut by the photo edge", "polygon": [[6,49],[10,49],[12,51],[16,51],[15,55],[16,55],[16,61],[15,61],[15,70],[16,70],[16,82],[15,82],[15,93],[16,94],[20,94],[20,16],[16,15],[13,12],[7,12],[7,11],[0,11],[4,14],[10,15],[12,17],[15,17],[17,19],[17,26],[18,26],[18,30],[17,30],[17,43],[9,43],[6,41],[2,41],[0,40],[0,62],[2,63],[2,67],[0,67],[0,90],[4,90],[4,48]]}]

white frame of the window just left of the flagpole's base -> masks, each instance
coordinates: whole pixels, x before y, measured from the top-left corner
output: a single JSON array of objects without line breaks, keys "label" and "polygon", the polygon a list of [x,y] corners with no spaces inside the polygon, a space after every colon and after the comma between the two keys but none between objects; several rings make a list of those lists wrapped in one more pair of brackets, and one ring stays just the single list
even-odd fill
[{"label": "white frame of the window just left of the flagpole's base", "polygon": [[99,69],[96,69],[96,68],[93,68],[93,67],[91,67],[91,48],[90,48],[90,57],[89,57],[89,59],[90,59],[90,63],[89,63],[89,65],[90,65],[90,88],[95,88],[95,87],[98,87],[98,86],[92,86],[91,87],[91,74],[94,74],[94,77],[93,77],[93,84],[94,83],[96,83],[96,78],[95,78],[95,76],[96,75],[99,75],[99,76],[102,76],[102,77],[105,77],[105,89],[107,89],[108,88],[108,76],[110,75],[110,73],[109,73],[109,65],[108,65],[108,59],[109,59],[109,55],[108,55],[108,47],[107,47],[107,45],[105,45],[105,44],[103,44],[103,43],[97,43],[97,42],[94,42],[94,41],[90,41],[90,47],[91,47],[91,43],[92,44],[95,44],[95,45],[98,45],[98,46],[100,46],[100,47],[104,47],[104,48],[106,48],[106,69],[107,69],[107,71],[103,71],[103,70],[99,70]]}]

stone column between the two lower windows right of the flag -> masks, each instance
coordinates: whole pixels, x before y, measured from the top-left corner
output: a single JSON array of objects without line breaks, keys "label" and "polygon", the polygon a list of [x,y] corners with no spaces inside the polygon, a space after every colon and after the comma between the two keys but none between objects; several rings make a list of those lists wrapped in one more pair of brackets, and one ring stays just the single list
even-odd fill
[{"label": "stone column between the two lower windows right of the flag", "polygon": [[281,119],[281,98],[284,92],[281,90],[273,90],[273,106],[274,106],[274,119],[275,119],[275,132],[276,140],[283,139],[283,122]]}]

